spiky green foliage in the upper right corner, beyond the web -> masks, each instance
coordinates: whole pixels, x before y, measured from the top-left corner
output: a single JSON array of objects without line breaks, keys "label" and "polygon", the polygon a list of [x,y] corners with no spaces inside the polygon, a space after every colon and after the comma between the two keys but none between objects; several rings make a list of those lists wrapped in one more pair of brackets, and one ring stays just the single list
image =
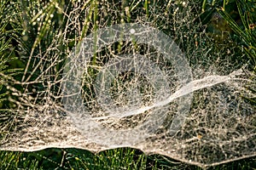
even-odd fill
[{"label": "spiky green foliage in the upper right corner, beyond the web", "polygon": [[[252,0],[205,0],[202,10],[202,18],[205,18],[204,22],[207,23],[208,31],[215,36],[214,39],[223,42],[227,37],[231,37],[241,52],[236,58],[243,56],[239,60],[246,61],[243,63],[256,73],[256,3]],[[252,80],[255,81],[255,76]],[[255,89],[248,86],[255,94]],[[256,105],[254,98],[244,99]]]}]

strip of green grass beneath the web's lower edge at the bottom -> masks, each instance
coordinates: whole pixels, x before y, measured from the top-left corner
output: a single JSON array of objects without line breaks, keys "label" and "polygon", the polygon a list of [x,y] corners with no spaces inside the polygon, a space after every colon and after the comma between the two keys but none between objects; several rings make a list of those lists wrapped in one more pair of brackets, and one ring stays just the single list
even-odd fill
[{"label": "strip of green grass beneath the web's lower edge at the bottom", "polygon": [[[255,169],[256,157],[209,167],[209,169]],[[35,152],[0,151],[1,169],[198,169],[160,155],[120,148],[93,154],[78,149],[46,149]]]}]

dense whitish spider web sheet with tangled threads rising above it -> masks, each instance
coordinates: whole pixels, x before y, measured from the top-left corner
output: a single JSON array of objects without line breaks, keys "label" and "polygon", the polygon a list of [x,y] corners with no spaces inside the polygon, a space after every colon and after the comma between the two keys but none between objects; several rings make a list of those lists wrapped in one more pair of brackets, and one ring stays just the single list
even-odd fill
[{"label": "dense whitish spider web sheet with tangled threads rising above it", "polygon": [[[4,113],[0,149],[131,147],[201,167],[255,156],[255,105],[244,99],[255,97],[247,89],[256,85],[253,75],[247,65],[230,61],[234,49],[225,58],[211,51],[211,38],[193,27],[195,4],[169,3],[173,14],[153,3],[151,12],[134,18],[130,13],[140,3],[124,7],[121,24],[108,23],[121,13],[113,4],[97,4],[100,20],[96,26],[88,22],[87,36],[64,59],[58,41],[44,54],[32,54],[27,65],[34,69],[22,82],[6,77],[19,109]],[[70,23],[56,35],[64,42],[68,32],[82,32],[79,17],[90,15],[90,6],[73,5],[81,11],[67,14]],[[30,91],[31,84],[42,89]]]}]

